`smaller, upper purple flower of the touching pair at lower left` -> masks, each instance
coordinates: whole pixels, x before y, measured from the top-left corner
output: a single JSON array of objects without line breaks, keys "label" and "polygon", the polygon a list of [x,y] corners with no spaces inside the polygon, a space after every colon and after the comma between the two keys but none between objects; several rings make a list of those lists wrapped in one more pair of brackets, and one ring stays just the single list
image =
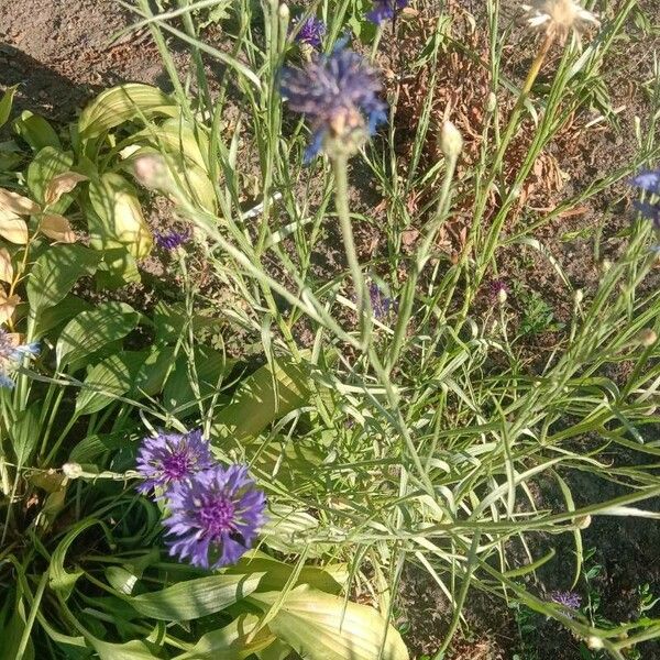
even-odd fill
[{"label": "smaller, upper purple flower of the touching pair at lower left", "polygon": [[[212,465],[211,451],[201,431],[189,433],[158,433],[145,438],[138,452],[136,469],[144,477],[138,486],[143,495],[156,488],[166,491],[191,479],[197,472]],[[168,493],[167,493],[168,494]]]}]

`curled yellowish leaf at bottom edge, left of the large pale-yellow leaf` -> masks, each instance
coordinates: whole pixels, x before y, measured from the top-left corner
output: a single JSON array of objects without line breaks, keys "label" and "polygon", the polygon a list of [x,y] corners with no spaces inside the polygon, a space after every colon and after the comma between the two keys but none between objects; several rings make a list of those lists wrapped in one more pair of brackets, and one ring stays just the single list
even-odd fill
[{"label": "curled yellowish leaf at bottom edge, left of the large pale-yellow leaf", "polygon": [[242,614],[224,628],[202,635],[191,650],[175,660],[241,660],[256,653],[276,641],[267,628],[251,637],[258,623],[258,616]]}]

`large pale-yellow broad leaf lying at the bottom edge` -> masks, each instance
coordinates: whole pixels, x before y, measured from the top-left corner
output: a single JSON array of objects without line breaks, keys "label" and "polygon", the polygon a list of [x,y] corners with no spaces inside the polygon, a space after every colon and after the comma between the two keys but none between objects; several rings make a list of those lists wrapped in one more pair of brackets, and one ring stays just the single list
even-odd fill
[{"label": "large pale-yellow broad leaf lying at the bottom edge", "polygon": [[[398,630],[373,608],[309,586],[255,593],[249,601],[271,612],[268,627],[304,658],[312,660],[408,660]],[[273,615],[274,614],[274,615]],[[383,648],[382,654],[381,648]]]}]

